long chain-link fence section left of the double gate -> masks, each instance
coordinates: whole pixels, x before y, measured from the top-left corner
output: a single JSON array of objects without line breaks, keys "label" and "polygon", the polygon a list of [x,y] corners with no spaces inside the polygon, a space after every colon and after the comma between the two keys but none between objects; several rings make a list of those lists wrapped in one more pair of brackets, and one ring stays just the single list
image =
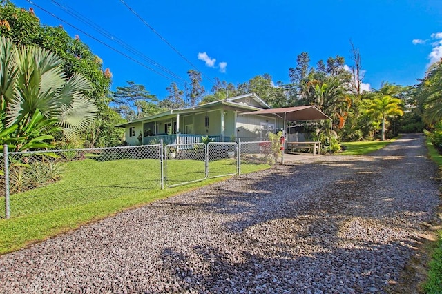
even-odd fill
[{"label": "long chain-link fence section left of the double gate", "polygon": [[[10,216],[18,217],[160,189],[160,149],[146,145],[8,153],[9,191],[3,177],[0,195],[9,194]],[[2,202],[3,217],[5,206]]]}]

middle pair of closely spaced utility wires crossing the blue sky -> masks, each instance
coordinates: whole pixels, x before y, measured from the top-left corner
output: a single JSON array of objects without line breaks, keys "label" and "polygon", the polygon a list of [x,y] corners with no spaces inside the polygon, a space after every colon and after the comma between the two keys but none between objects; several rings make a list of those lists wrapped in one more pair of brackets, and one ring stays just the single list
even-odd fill
[{"label": "middle pair of closely spaced utility wires crossing the blue sky", "polygon": [[55,0],[51,0],[52,3],[54,3],[56,6],[58,6],[59,8],[61,8],[62,10],[64,10],[64,12],[70,14],[72,17],[74,17],[75,19],[86,23],[86,25],[92,27],[94,30],[96,30],[97,32],[99,32],[99,34],[103,35],[104,37],[111,39],[111,41],[115,41],[116,43],[118,43],[119,45],[121,45],[123,48],[125,48],[126,50],[128,50],[129,52],[132,52],[134,55],[137,55],[138,57],[141,57],[142,59],[144,59],[145,61],[147,61],[148,63],[151,63],[151,65],[156,66],[157,68],[159,68],[160,70],[162,70],[163,72],[166,72],[168,75],[171,75],[171,77],[181,80],[183,83],[186,82],[185,79],[183,79],[182,77],[180,77],[179,75],[175,74],[175,72],[173,72],[172,70],[169,70],[169,68],[166,68],[165,66],[162,66],[160,63],[158,63],[157,61],[151,59],[150,57],[144,55],[142,52],[140,52],[139,50],[133,48],[132,46],[128,45],[128,43],[122,41],[121,39],[119,39],[118,37],[116,37],[115,35],[113,35],[111,32],[106,31],[104,28],[102,28],[101,26],[97,25],[96,23],[94,23],[93,21],[90,21],[90,19],[88,19],[87,17],[84,17],[84,15],[82,15],[81,13],[75,11],[73,8],[67,6],[64,3],[59,3]]}]

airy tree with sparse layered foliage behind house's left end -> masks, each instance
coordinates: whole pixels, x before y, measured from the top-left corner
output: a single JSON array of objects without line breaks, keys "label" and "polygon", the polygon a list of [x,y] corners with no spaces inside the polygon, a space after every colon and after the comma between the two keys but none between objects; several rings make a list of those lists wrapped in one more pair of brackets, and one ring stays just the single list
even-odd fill
[{"label": "airy tree with sparse layered foliage behind house's left end", "polygon": [[151,95],[143,85],[135,84],[134,81],[127,81],[127,84],[128,86],[117,87],[113,92],[113,103],[117,104],[117,112],[132,120],[153,115],[160,110],[156,104],[157,97]]}]

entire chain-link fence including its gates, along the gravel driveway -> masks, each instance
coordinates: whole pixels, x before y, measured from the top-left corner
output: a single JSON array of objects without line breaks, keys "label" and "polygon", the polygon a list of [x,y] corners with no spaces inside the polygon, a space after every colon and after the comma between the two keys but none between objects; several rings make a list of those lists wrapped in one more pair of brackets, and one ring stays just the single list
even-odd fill
[{"label": "entire chain-link fence including its gates, along the gravel driveway", "polygon": [[280,155],[277,141],[6,152],[0,154],[0,217],[87,209],[164,186],[250,173],[280,162]]}]

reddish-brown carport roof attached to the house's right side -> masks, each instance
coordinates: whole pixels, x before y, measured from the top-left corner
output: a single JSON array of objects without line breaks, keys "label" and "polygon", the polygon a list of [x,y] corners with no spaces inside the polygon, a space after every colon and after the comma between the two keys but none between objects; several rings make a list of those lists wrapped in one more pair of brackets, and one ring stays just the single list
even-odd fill
[{"label": "reddish-brown carport roof attached to the house's right side", "polygon": [[313,105],[273,108],[242,113],[242,115],[278,115],[286,121],[319,121],[331,119]]}]

